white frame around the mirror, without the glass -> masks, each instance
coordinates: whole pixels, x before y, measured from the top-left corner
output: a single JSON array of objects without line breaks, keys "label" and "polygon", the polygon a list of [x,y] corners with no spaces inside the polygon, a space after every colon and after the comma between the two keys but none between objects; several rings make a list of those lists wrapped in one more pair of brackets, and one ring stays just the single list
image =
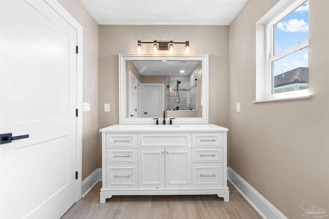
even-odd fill
[{"label": "white frame around the mirror, without the glass", "polygon": [[[197,60],[202,61],[202,117],[177,117],[174,124],[208,124],[208,97],[209,97],[209,61],[208,54],[119,54],[119,124],[155,124],[153,118],[130,118],[126,117],[126,89],[125,89],[125,61],[129,60]],[[162,119],[159,118],[159,124]],[[169,119],[167,121],[169,124]]]}]

